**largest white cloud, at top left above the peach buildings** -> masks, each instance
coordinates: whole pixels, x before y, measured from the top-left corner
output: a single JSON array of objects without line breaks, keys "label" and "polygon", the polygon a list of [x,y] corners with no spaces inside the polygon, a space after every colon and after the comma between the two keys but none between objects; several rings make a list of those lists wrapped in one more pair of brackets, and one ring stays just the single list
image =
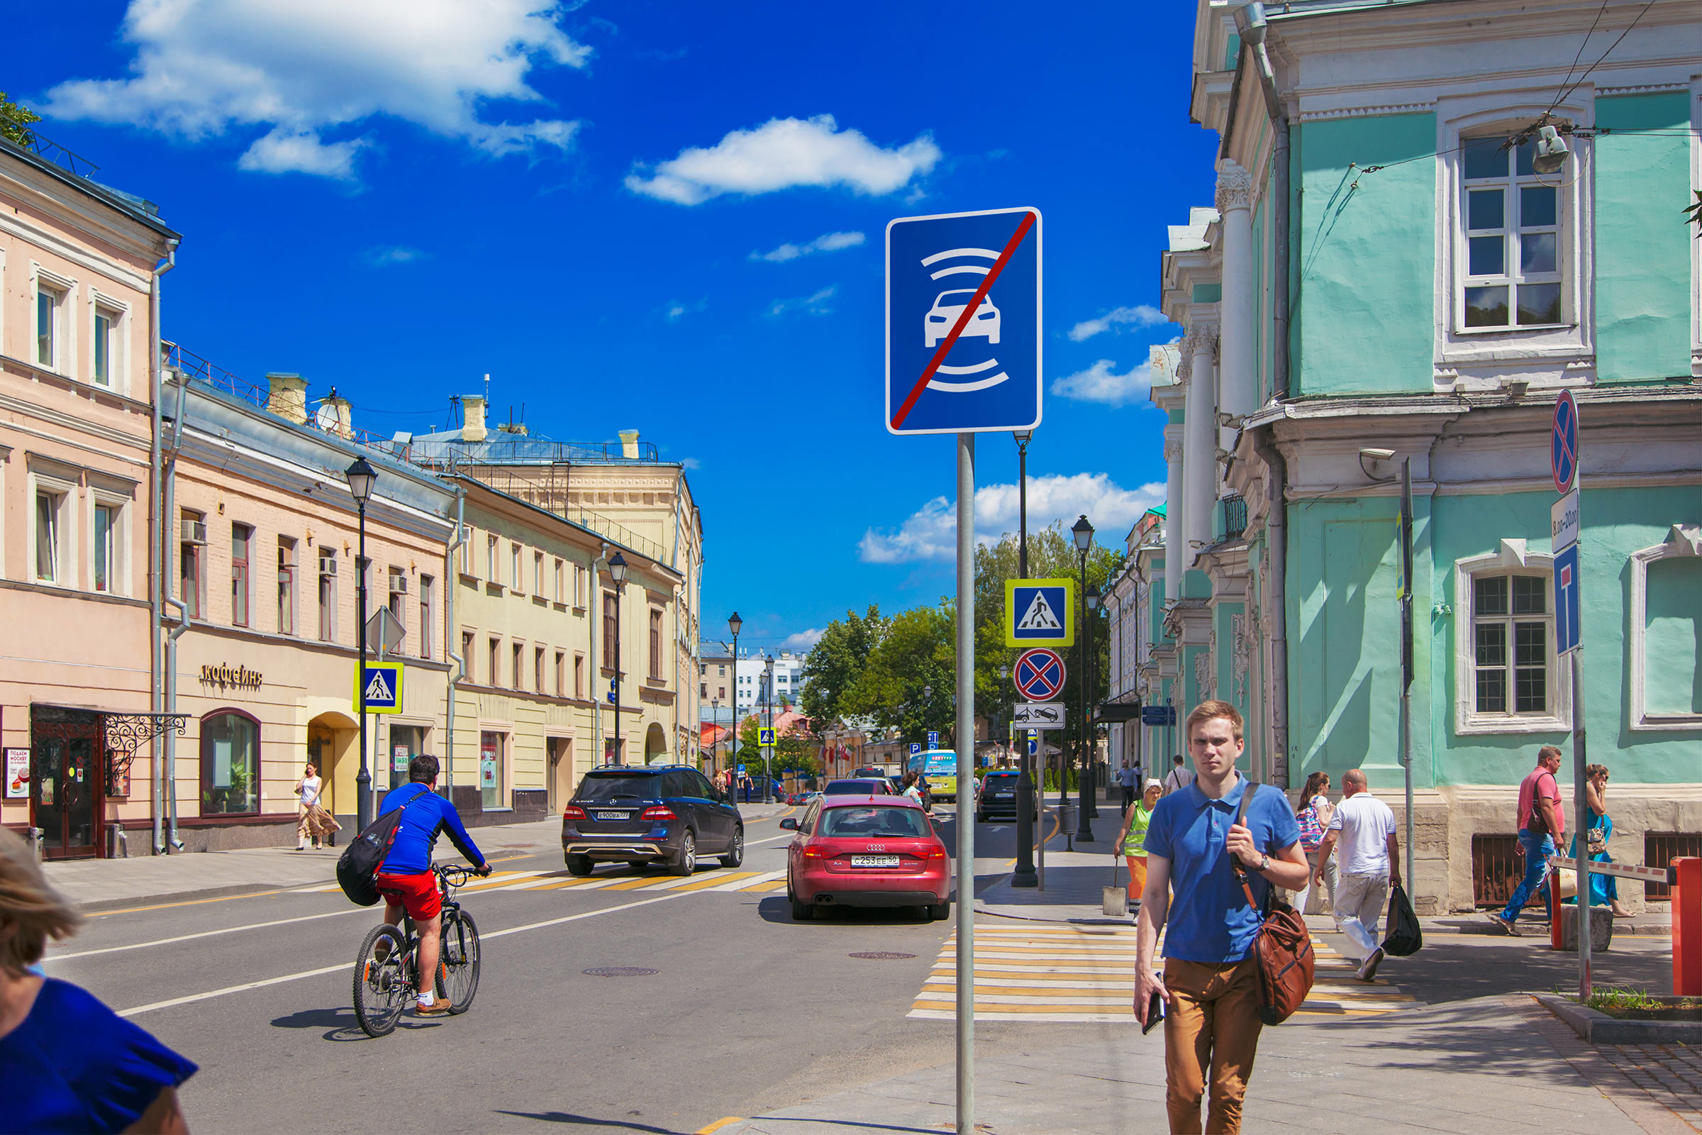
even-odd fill
[{"label": "largest white cloud, at top left above the peach buildings", "polygon": [[191,141],[262,126],[245,170],[354,175],[361,138],[322,131],[398,117],[488,155],[567,148],[568,121],[488,123],[488,100],[540,95],[538,65],[584,66],[553,0],[131,0],[128,78],[48,92],[58,119],[128,123]]}]

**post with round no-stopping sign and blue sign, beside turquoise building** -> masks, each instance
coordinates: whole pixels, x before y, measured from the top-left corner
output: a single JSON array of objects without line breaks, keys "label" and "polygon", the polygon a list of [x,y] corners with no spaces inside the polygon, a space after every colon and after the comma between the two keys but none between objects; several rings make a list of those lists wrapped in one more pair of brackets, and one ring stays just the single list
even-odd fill
[{"label": "post with round no-stopping sign and blue sign, beside turquoise building", "polygon": [[[1554,490],[1561,499],[1549,512],[1549,538],[1554,550],[1554,636],[1556,655],[1571,662],[1573,682],[1573,841],[1578,844],[1578,999],[1590,999],[1590,841],[1585,825],[1590,820],[1585,776],[1585,674],[1583,635],[1579,628],[1583,604],[1583,572],[1578,563],[1578,536],[1583,528],[1578,492],[1578,402],[1573,391],[1562,390],[1554,403],[1554,427],[1549,431],[1549,465],[1554,471]],[[1566,847],[1556,847],[1564,856]],[[1549,876],[1556,878],[1554,875]],[[1554,893],[1554,936],[1551,944],[1562,941],[1564,912],[1559,888]]]}]

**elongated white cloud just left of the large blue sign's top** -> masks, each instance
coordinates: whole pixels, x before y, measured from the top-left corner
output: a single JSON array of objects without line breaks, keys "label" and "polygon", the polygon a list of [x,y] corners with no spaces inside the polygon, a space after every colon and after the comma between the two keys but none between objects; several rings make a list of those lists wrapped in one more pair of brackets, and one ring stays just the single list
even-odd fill
[{"label": "elongated white cloud just left of the large blue sign's top", "polygon": [[626,187],[674,204],[703,204],[723,192],[764,194],[793,185],[846,185],[861,194],[890,194],[922,177],[940,160],[928,134],[882,148],[854,129],[839,129],[831,114],[776,117],[756,129],[728,131],[710,148],[691,146],[654,167],[637,165]]}]

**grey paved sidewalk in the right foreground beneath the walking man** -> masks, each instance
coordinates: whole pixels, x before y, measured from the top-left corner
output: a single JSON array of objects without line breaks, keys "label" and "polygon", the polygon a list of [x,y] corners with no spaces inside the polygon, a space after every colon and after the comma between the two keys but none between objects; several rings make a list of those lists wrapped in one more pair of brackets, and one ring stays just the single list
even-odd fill
[{"label": "grey paved sidewalk in the right foreground beneath the walking man", "polygon": [[[1026,1028],[1035,1043],[1023,1045],[1019,1055],[975,1064],[979,1132],[1164,1130],[1162,1031],[1142,1036],[1139,1028],[1108,1026],[1098,1040],[1048,1047],[1045,1026]],[[950,1062],[909,1069],[897,1079],[705,1130],[951,1130],[955,1075]],[[1692,1135],[1695,1128],[1617,1065],[1576,1043],[1528,995],[1498,995],[1380,1018],[1266,1028],[1242,1130]]]}]

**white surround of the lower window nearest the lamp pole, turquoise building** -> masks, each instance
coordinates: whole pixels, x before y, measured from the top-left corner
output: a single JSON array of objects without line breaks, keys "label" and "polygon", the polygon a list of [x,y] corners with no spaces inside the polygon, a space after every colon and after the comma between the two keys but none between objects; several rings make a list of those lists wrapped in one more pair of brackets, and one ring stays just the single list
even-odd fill
[{"label": "white surround of the lower window nearest the lamp pole, turquoise building", "polygon": [[[1547,687],[1549,713],[1477,713],[1477,635],[1474,633],[1474,584],[1482,575],[1544,575],[1549,580]],[[1528,619],[1527,619],[1528,621]],[[1554,653],[1554,556],[1530,551],[1523,539],[1503,539],[1499,550],[1454,562],[1454,732],[1460,737],[1489,733],[1552,733],[1573,727],[1571,682],[1561,681]],[[1508,643],[1508,703],[1513,699],[1511,650]]]}]

